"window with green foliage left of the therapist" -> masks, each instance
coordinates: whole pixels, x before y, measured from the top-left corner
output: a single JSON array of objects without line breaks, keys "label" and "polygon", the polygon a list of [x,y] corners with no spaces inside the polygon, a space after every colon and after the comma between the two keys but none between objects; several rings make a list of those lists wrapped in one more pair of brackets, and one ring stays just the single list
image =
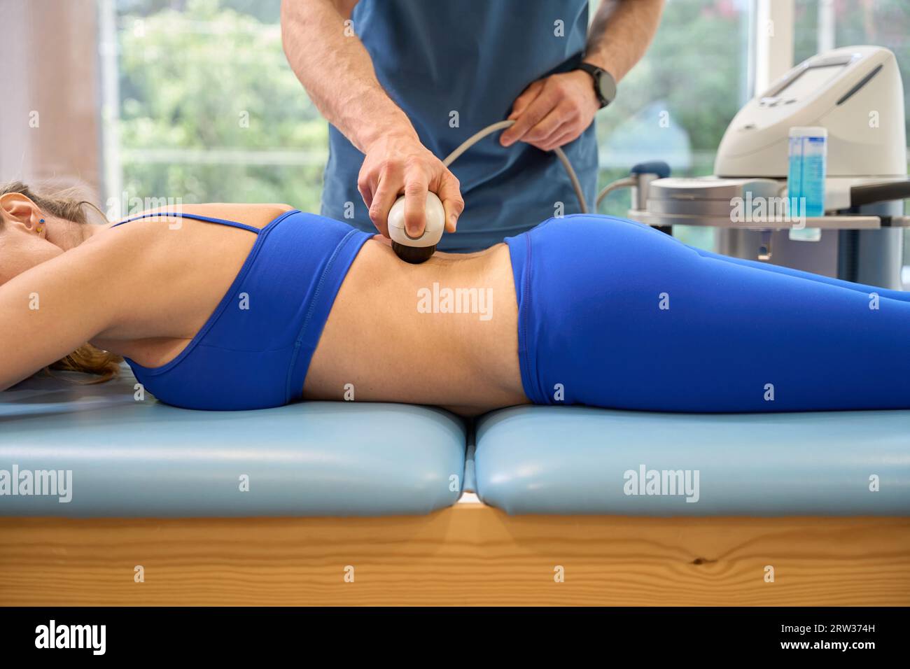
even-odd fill
[{"label": "window with green foliage left of the therapist", "polygon": [[280,0],[101,0],[106,195],[319,210],[328,127]]}]

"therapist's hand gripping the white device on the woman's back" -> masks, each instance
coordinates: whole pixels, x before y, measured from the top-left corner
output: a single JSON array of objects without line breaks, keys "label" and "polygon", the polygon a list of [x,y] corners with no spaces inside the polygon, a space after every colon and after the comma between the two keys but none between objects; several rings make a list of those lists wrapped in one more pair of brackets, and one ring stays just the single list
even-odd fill
[{"label": "therapist's hand gripping the white device on the woman's back", "polygon": [[436,193],[446,210],[446,231],[454,232],[464,200],[459,180],[416,134],[392,133],[367,148],[357,179],[360,197],[369,207],[373,225],[389,237],[389,209],[404,193],[404,225],[411,237],[426,227],[427,191]]}]

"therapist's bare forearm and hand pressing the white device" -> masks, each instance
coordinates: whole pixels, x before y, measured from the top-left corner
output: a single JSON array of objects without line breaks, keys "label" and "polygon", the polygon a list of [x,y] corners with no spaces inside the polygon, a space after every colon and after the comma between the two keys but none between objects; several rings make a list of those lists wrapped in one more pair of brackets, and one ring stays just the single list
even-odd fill
[{"label": "therapist's bare forearm and hand pressing the white device", "polygon": [[282,0],[281,38],[288,63],[324,117],[365,154],[358,189],[369,218],[389,236],[389,209],[405,194],[405,225],[425,225],[427,190],[440,196],[446,228],[464,208],[459,181],[420,143],[407,115],[379,85],[372,60],[350,23],[356,0]]}]

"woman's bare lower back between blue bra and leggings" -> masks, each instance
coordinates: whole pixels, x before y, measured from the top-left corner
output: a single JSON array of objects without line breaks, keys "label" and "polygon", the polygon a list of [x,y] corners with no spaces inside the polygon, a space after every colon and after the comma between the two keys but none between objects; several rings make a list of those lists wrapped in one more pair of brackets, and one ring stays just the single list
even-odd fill
[{"label": "woman's bare lower back between blue bra and leggings", "polygon": [[517,322],[506,245],[407,265],[373,238],[339,290],[304,397],[341,400],[348,388],[469,415],[525,403]]}]

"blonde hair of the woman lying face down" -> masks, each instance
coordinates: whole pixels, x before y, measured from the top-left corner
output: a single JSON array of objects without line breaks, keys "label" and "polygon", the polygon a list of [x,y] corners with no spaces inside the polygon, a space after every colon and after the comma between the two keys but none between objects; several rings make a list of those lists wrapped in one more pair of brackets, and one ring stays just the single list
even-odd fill
[{"label": "blonde hair of the woman lying face down", "polygon": [[[0,196],[7,193],[24,195],[32,200],[45,214],[56,218],[65,218],[80,225],[88,225],[86,210],[83,206],[95,209],[106,219],[101,209],[87,200],[79,199],[75,188],[56,191],[53,195],[38,194],[21,181],[12,181],[5,186],[0,186]],[[0,218],[0,228],[2,226],[3,219]],[[96,346],[86,342],[61,360],[52,362],[45,367],[44,371],[45,374],[51,376],[56,376],[52,370],[81,371],[97,377],[93,380],[82,381],[83,383],[103,383],[116,377],[120,370],[121,362],[123,362],[123,358],[115,353],[98,349]]]}]

